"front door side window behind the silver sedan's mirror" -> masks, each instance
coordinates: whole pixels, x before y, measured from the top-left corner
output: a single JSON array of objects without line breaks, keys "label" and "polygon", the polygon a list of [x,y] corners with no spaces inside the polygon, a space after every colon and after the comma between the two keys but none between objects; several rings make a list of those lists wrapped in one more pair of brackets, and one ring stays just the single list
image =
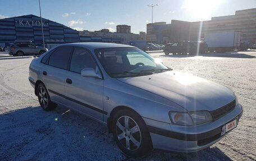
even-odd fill
[{"label": "front door side window behind the silver sedan's mirror", "polygon": [[92,55],[82,48],[75,48],[70,62],[70,71],[81,73],[84,68],[93,68],[96,70],[96,63]]}]

